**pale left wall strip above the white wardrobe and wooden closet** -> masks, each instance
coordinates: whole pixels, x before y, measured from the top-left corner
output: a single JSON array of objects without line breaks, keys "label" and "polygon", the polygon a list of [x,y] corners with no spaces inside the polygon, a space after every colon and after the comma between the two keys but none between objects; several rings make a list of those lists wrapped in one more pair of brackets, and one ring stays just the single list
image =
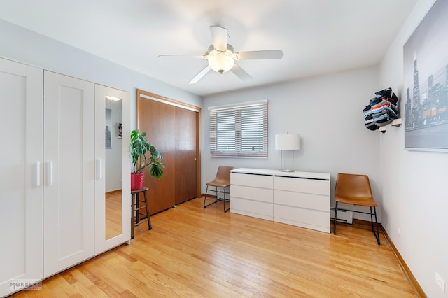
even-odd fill
[{"label": "pale left wall strip above the white wardrobe and wooden closet", "polygon": [[[196,94],[5,20],[0,20],[0,41],[0,57],[130,92],[132,128],[136,126],[137,88],[193,106],[202,106],[202,97]],[[130,52],[132,52],[131,46]],[[127,53],[127,55],[132,54]]]}]

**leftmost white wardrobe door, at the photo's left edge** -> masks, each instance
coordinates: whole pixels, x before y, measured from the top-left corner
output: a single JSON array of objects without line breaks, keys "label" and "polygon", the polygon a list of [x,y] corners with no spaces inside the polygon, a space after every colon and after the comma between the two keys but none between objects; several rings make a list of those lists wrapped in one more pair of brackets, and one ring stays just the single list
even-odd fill
[{"label": "leftmost white wardrobe door, at the photo's left edge", "polygon": [[43,70],[0,59],[0,297],[42,279]]}]

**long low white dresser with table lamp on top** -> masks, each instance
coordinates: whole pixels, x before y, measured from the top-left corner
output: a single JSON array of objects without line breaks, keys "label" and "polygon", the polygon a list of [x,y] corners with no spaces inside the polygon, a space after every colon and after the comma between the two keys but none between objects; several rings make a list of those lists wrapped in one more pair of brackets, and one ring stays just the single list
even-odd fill
[{"label": "long low white dresser with table lamp on top", "polygon": [[330,233],[330,174],[232,170],[232,213]]}]

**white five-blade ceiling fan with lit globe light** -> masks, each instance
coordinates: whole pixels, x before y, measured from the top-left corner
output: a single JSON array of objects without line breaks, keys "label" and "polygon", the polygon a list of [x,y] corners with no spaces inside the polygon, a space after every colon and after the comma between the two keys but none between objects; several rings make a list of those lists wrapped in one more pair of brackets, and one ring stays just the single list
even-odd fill
[{"label": "white five-blade ceiling fan with lit globe light", "polygon": [[190,84],[197,83],[203,76],[205,76],[211,69],[217,73],[225,73],[232,71],[241,80],[250,80],[252,77],[244,69],[241,69],[237,60],[248,59],[281,59],[283,52],[281,50],[258,50],[250,52],[235,52],[232,45],[227,43],[228,30],[219,26],[210,26],[211,40],[213,44],[209,46],[209,50],[204,55],[159,55],[159,57],[169,56],[190,56],[201,59],[207,59],[207,65],[200,73],[190,80]]}]

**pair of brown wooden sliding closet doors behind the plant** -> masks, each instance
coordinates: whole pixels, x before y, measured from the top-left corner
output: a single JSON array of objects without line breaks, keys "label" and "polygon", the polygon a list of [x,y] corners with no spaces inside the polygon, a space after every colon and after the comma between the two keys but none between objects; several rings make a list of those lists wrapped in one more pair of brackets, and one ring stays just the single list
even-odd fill
[{"label": "pair of brown wooden sliding closet doors behind the plant", "polygon": [[145,176],[151,214],[200,194],[199,119],[195,108],[137,90],[137,127],[162,152],[165,164],[160,180]]}]

